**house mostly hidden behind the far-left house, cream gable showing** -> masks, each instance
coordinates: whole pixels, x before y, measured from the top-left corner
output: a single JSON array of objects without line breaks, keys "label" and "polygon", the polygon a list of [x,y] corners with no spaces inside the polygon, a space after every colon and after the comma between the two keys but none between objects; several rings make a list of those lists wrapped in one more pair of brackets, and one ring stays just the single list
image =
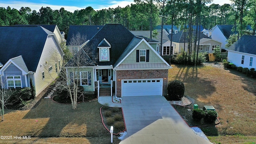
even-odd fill
[{"label": "house mostly hidden behind the far-left house, cream gable showing", "polygon": [[30,24],[30,25],[21,25],[21,24],[16,24],[15,26],[42,26],[43,28],[46,28],[50,32],[53,32],[59,42],[61,44],[63,42],[62,39],[62,34],[60,33],[60,30],[56,24]]}]

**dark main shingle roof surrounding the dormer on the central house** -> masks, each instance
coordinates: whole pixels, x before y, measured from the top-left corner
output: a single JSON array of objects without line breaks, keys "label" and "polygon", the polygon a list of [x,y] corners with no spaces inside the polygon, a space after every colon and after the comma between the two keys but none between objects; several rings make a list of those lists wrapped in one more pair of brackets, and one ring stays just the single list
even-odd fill
[{"label": "dark main shingle roof surrounding the dormer on the central house", "polygon": [[[127,30],[122,24],[105,24],[99,32],[97,32],[92,39],[83,47],[92,48],[94,56],[98,55],[98,44],[106,39],[110,45],[110,61],[109,62],[99,62],[97,64],[100,66],[110,66],[114,65],[121,54],[124,52],[126,47],[130,44],[134,35]],[[86,50],[85,50],[86,51]]]}]

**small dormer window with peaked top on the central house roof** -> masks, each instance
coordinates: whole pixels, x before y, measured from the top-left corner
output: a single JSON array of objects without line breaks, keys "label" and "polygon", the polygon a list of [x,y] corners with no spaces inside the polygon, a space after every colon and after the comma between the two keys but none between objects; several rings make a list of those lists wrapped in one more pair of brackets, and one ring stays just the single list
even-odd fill
[{"label": "small dormer window with peaked top on the central house roof", "polygon": [[104,38],[100,44],[98,45],[99,48],[99,56],[100,62],[110,61],[110,43]]}]

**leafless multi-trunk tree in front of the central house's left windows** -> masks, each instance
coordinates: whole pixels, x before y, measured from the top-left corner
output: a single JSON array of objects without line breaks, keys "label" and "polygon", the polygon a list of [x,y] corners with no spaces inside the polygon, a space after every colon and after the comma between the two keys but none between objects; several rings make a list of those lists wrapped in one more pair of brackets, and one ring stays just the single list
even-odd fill
[{"label": "leafless multi-trunk tree in front of the central house's left windows", "polygon": [[98,54],[93,53],[92,46],[86,45],[86,37],[79,33],[72,36],[70,43],[77,49],[72,50],[72,55],[68,58],[69,61],[62,66],[62,71],[59,74],[60,86],[58,90],[68,91],[72,109],[75,110],[77,109],[77,99],[80,93],[79,86],[90,81],[89,78],[85,79],[88,73],[83,72],[83,70],[87,66],[96,66]]}]

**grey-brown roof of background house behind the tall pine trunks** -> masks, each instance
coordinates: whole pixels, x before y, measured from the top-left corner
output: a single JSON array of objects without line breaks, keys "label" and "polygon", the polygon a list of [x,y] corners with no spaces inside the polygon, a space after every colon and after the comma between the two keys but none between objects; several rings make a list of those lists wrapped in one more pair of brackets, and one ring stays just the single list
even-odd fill
[{"label": "grey-brown roof of background house behind the tall pine trunks", "polygon": [[[186,36],[185,36],[186,34]],[[200,34],[200,39],[202,38],[209,38],[208,36],[204,35],[202,32],[198,31],[198,36]],[[196,30],[192,31],[192,35],[196,36]],[[168,36],[169,38],[171,35]],[[186,42],[188,42],[188,31],[184,32],[184,30],[178,32],[177,34],[174,34],[172,36],[172,42],[178,42],[178,43],[184,43],[184,38],[186,37]]]}]

